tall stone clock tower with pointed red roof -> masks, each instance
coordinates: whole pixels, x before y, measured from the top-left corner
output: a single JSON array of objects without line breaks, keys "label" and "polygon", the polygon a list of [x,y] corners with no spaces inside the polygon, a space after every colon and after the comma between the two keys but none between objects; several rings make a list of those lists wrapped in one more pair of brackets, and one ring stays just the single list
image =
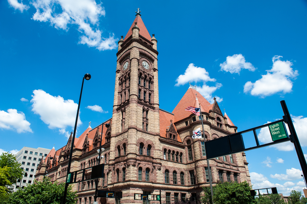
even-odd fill
[{"label": "tall stone clock tower with pointed red roof", "polygon": [[[118,42],[110,144],[115,149],[110,149],[110,160],[114,160],[112,174],[120,178],[114,179],[112,189],[122,187],[116,180],[122,181],[123,176],[125,185],[134,186],[133,189],[152,187],[161,170],[158,52],[157,40],[152,36],[138,11],[126,37]],[[128,187],[122,191],[123,196],[134,192],[142,190],[132,191]]]}]

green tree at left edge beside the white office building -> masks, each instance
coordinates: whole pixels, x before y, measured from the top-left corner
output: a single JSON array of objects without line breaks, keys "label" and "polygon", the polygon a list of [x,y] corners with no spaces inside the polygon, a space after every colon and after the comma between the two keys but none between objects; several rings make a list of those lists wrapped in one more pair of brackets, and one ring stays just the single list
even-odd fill
[{"label": "green tree at left edge beside the white office building", "polygon": [[7,179],[10,181],[10,185],[16,184],[17,179],[22,179],[24,171],[20,168],[20,166],[21,164],[16,161],[14,154],[9,154],[6,152],[0,155],[0,168],[9,167]]}]

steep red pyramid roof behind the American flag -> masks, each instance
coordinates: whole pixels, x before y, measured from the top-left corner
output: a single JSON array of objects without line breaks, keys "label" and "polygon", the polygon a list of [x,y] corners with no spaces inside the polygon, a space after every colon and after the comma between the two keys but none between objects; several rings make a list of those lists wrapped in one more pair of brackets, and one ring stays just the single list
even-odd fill
[{"label": "steep red pyramid roof behind the American flag", "polygon": [[210,103],[195,89],[188,88],[185,95],[181,98],[180,102],[177,104],[175,109],[173,110],[173,114],[175,115],[175,121],[180,121],[186,117],[189,117],[192,113],[190,111],[185,111],[188,106],[195,106],[196,95],[198,101],[200,102],[200,107],[202,112],[209,112]]}]

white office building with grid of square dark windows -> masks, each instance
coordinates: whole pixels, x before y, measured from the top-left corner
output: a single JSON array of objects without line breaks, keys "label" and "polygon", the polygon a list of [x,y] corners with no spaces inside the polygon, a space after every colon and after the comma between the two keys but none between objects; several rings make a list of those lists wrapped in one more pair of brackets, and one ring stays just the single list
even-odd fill
[{"label": "white office building with grid of square dark windows", "polygon": [[34,180],[34,175],[36,168],[41,162],[42,157],[48,155],[51,149],[45,148],[31,148],[23,147],[17,154],[16,159],[21,164],[21,168],[25,170],[22,179],[18,179],[16,185],[14,185],[14,192],[18,190],[19,187],[24,188],[27,184],[32,184]]}]

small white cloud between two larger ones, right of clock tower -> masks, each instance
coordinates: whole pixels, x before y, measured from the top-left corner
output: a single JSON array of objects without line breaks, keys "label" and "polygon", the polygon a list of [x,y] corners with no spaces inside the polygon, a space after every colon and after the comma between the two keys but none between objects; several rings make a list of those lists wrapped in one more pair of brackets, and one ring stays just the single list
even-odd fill
[{"label": "small white cloud between two larger ones, right of clock tower", "polygon": [[255,71],[256,68],[250,63],[246,62],[242,54],[235,54],[233,56],[227,56],[226,61],[220,64],[221,71],[229,71],[231,74],[240,74],[241,69],[248,69],[249,71]]}]

